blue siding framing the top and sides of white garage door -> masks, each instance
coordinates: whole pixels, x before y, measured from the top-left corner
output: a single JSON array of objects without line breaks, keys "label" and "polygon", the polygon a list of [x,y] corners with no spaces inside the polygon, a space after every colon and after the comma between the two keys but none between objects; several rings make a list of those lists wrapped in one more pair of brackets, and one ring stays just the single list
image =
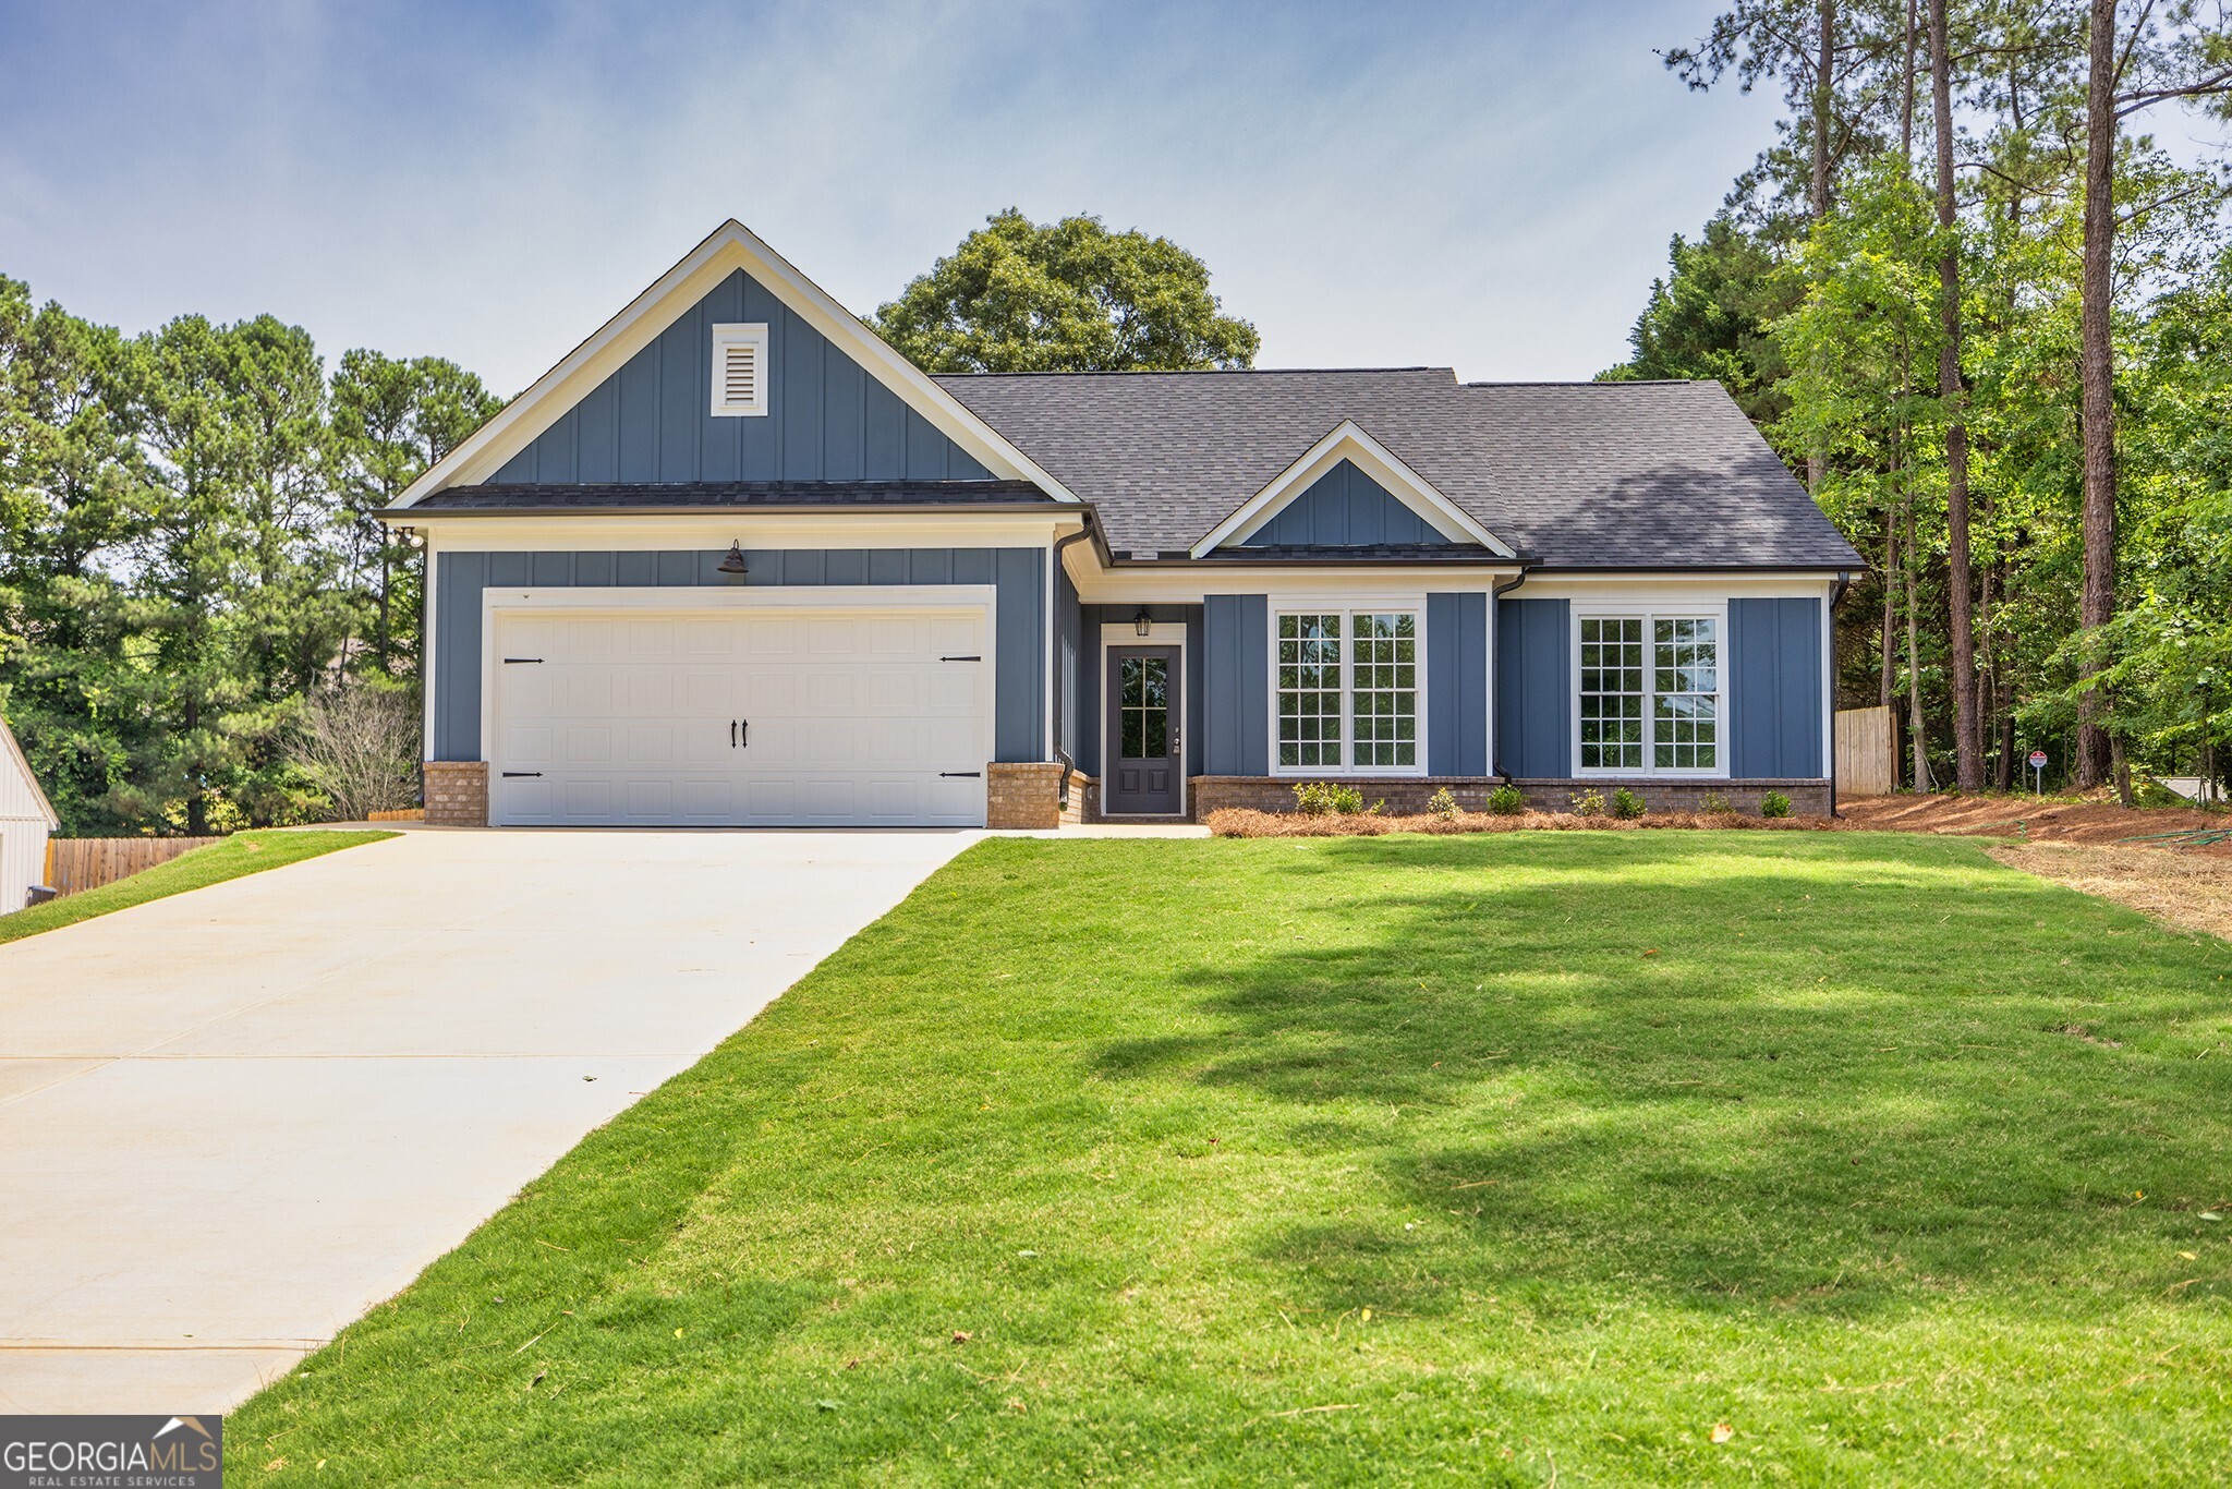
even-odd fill
[{"label": "blue siding framing the top and sides of white garage door", "polygon": [[[993,585],[993,755],[1042,759],[1047,676],[1045,549],[745,549],[759,585]],[[723,554],[547,551],[435,556],[433,759],[482,759],[480,592],[728,585]]]}]

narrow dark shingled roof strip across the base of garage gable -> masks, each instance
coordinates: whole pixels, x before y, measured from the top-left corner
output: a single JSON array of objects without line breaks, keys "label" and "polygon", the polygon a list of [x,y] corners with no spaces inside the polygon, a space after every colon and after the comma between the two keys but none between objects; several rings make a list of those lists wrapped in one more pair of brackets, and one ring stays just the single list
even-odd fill
[{"label": "narrow dark shingled roof strip across the base of garage gable", "polygon": [[[1062,507],[1027,480],[725,480],[449,487],[397,522],[437,511],[674,511],[734,507]],[[1074,511],[1074,509],[1071,509]]]}]

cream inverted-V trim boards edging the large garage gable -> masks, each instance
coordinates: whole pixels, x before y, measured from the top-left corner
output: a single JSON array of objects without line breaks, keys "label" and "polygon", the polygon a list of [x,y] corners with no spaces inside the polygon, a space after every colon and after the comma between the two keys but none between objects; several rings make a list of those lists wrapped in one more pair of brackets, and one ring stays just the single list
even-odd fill
[{"label": "cream inverted-V trim boards edging the large garage gable", "polygon": [[750,228],[728,219],[647,290],[627,301],[627,308],[598,326],[587,342],[560,357],[558,366],[542,373],[493,420],[429,467],[388,511],[415,507],[444,487],[471,487],[496,475],[507,460],[533,444],[536,435],[556,424],[567,409],[620,371],[629,357],[650,346],[661,330],[681,319],[690,306],[739,268],[763,284],[801,321],[835,342],[839,350],[850,353],[870,377],[891,388],[902,404],[915,409],[937,433],[969,451],[993,475],[1029,480],[1062,502],[1078,500],[1069,487],[1049,475],[991,424],[969,413],[958,397],[895,353],[884,337],[868,330],[828,290],[792,268]]}]

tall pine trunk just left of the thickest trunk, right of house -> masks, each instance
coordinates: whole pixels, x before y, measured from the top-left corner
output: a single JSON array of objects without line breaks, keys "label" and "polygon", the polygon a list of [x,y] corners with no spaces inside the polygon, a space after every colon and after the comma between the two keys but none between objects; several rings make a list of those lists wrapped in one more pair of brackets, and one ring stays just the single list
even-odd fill
[{"label": "tall pine trunk just left of the thickest trunk, right of house", "polygon": [[1953,612],[1953,757],[1955,786],[1984,790],[1982,730],[1975,710],[1975,609],[1969,571],[1969,400],[1960,375],[1960,241],[1953,237],[1953,49],[1946,36],[1946,0],[1931,0],[1931,116],[1937,132],[1937,228],[1946,234],[1937,254],[1937,397],[1946,411],[1946,596]]}]

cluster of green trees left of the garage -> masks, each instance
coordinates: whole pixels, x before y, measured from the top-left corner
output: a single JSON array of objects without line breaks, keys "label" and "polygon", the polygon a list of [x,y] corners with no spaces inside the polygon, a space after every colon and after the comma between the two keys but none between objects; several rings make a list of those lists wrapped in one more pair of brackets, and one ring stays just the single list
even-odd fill
[{"label": "cluster of green trees left of the garage", "polygon": [[0,279],[0,710],[67,833],[297,822],[301,699],[413,688],[417,556],[364,513],[493,400],[437,359],[187,315],[141,337]]}]

